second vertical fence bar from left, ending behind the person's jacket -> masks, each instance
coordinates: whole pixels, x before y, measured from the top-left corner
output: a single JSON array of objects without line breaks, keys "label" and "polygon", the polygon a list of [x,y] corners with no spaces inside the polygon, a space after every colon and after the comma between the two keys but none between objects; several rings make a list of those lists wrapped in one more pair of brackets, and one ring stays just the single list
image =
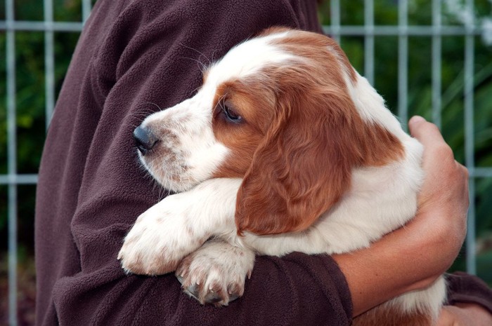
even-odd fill
[{"label": "second vertical fence bar from left, ending behind the person's jacket", "polygon": [[55,108],[55,33],[53,32],[53,0],[44,0],[44,94],[46,129]]}]

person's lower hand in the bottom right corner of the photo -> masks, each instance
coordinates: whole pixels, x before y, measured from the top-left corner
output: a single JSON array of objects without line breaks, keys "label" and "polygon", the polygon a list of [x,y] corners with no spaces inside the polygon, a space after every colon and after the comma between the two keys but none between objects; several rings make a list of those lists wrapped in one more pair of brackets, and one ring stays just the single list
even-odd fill
[{"label": "person's lower hand in the bottom right corner of the photo", "polygon": [[490,326],[492,314],[478,304],[444,306],[436,326]]}]

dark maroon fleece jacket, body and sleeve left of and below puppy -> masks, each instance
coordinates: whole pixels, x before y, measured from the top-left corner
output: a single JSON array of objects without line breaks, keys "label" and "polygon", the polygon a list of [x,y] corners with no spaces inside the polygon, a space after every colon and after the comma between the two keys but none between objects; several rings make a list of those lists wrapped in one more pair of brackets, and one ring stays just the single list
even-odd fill
[{"label": "dark maroon fleece jacket, body and sleeve left of and below puppy", "polygon": [[[200,306],[174,275],[127,276],[117,261],[136,217],[165,196],[132,131],[200,86],[200,70],[273,25],[319,31],[315,1],[100,0],[72,59],[39,172],[37,325],[349,325],[328,256],[257,257],[245,296]],[[219,198],[218,198],[219,200]]]}]

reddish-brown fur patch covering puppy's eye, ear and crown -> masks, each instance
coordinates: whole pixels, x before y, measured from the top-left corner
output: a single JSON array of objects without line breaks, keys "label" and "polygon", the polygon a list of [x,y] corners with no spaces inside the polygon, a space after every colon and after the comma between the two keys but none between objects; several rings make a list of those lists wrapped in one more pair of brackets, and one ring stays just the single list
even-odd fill
[{"label": "reddish-brown fur patch covering puppy's eye, ear and crown", "polygon": [[350,188],[353,168],[403,156],[394,135],[358,114],[344,72],[352,82],[357,76],[334,41],[295,31],[274,42],[302,59],[228,81],[216,93],[216,104],[226,100],[244,118],[233,124],[214,110],[214,134],[232,152],[214,177],[244,176],[240,233],[307,229]]}]

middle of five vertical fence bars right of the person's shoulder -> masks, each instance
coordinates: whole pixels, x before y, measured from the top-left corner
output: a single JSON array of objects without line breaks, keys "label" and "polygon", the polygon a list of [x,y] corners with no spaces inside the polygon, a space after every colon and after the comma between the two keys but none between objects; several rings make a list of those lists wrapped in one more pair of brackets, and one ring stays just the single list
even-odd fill
[{"label": "middle of five vertical fence bars right of the person's shoulder", "polygon": [[398,3],[398,115],[403,128],[408,122],[408,0]]}]

